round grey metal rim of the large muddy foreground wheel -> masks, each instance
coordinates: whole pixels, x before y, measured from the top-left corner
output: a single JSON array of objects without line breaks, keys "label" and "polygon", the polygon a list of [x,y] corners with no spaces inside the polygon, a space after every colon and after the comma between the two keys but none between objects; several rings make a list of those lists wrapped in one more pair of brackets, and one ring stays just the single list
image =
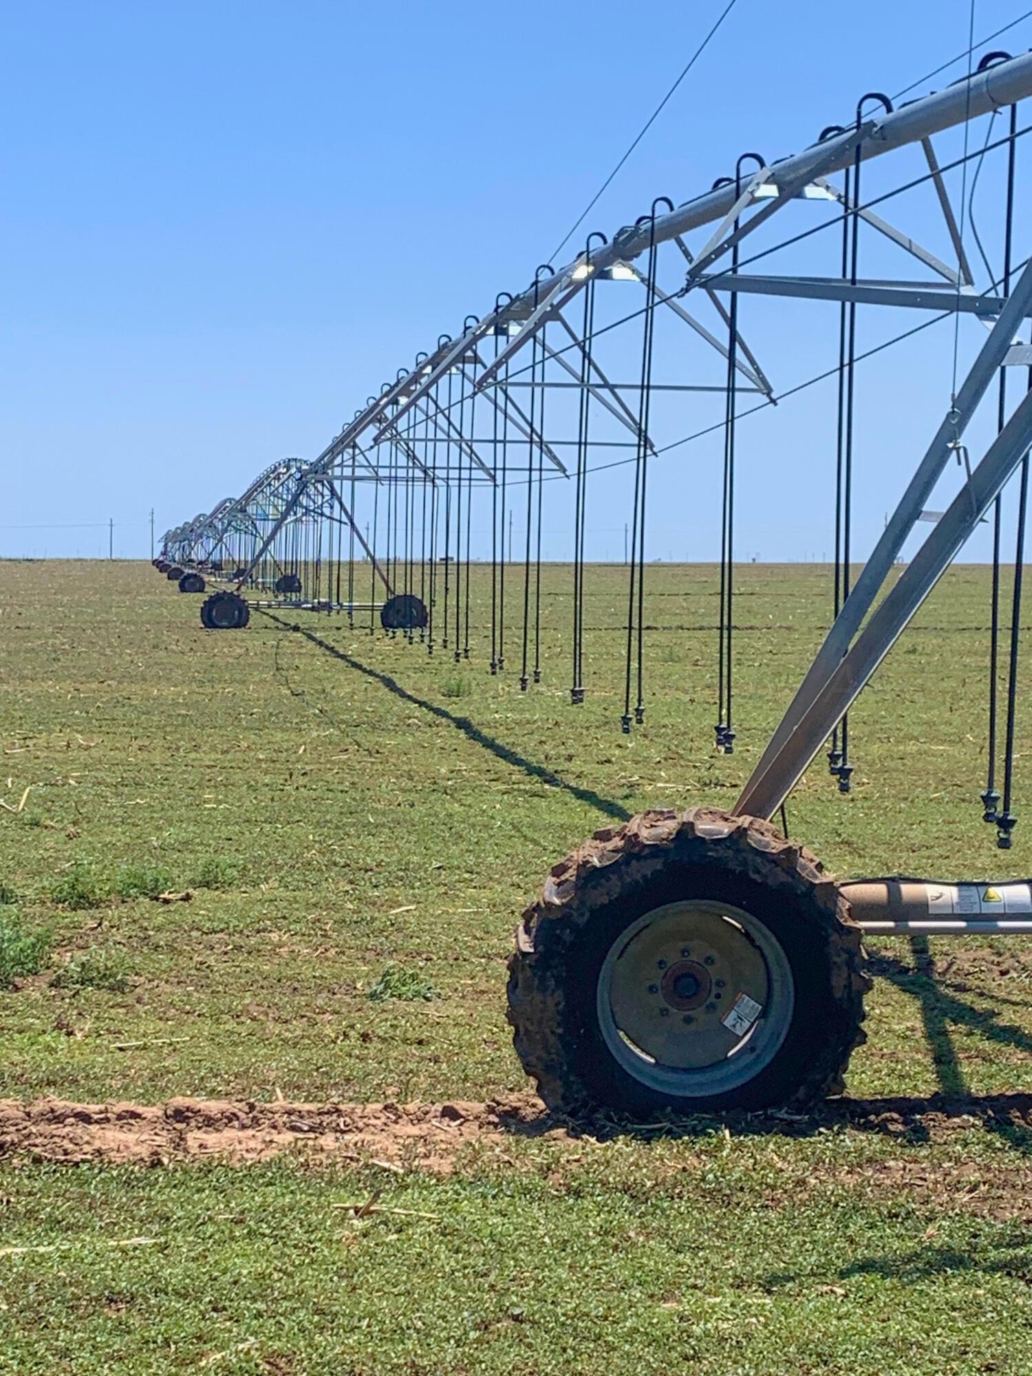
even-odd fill
[{"label": "round grey metal rim of the large muddy foreground wheel", "polygon": [[684,1098],[755,1079],[794,1007],[788,958],[769,927],[711,900],[644,914],[599,974],[599,1025],[614,1058],[641,1084]]}]

